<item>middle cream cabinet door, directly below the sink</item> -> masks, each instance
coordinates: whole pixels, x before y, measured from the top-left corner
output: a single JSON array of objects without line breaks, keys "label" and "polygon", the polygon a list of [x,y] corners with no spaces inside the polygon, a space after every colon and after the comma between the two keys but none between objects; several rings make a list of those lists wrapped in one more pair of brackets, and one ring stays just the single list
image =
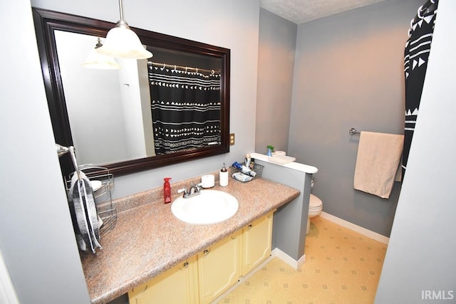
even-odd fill
[{"label": "middle cream cabinet door, directly below the sink", "polygon": [[241,273],[242,231],[198,253],[199,303],[210,303],[236,283]]}]

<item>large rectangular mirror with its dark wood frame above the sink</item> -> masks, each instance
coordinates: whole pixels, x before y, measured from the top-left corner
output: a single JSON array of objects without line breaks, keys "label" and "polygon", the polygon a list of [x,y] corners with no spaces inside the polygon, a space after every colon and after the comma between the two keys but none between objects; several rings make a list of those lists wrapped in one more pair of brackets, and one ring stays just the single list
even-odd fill
[{"label": "large rectangular mirror with its dark wood frame above the sink", "polygon": [[[79,163],[121,175],[229,152],[229,49],[132,28],[152,58],[116,59],[119,70],[82,68],[115,23],[36,8],[33,19],[56,143],[73,145]],[[210,85],[181,100],[162,92],[160,73]],[[201,120],[204,127],[187,127]],[[187,137],[173,141],[177,133]],[[69,157],[60,160],[64,176],[73,172]]]}]

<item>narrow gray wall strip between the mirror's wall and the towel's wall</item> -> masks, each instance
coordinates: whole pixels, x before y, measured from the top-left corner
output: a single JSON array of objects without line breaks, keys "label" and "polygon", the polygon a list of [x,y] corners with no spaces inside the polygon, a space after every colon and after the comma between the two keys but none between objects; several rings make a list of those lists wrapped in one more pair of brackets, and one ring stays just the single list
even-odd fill
[{"label": "narrow gray wall strip between the mirror's wall and the towel's wall", "polygon": [[259,11],[257,125],[255,152],[266,146],[286,151],[289,137],[296,23]]}]

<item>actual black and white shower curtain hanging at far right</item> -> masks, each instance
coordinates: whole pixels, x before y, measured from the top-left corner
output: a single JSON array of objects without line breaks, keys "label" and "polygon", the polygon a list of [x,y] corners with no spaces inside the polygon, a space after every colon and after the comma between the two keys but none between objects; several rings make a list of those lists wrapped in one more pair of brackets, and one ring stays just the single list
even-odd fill
[{"label": "actual black and white shower curtain hanging at far right", "polygon": [[410,21],[408,40],[405,44],[405,130],[403,151],[403,176],[407,169],[408,153],[412,143],[415,123],[420,108],[421,93],[425,81],[432,33],[437,16],[438,0],[428,0],[418,9],[415,19]]}]

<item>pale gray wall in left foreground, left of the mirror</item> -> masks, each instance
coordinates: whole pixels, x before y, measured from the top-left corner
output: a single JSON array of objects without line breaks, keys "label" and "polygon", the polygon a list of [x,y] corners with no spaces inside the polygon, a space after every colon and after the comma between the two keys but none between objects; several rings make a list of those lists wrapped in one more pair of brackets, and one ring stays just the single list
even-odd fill
[{"label": "pale gray wall in left foreground, left of the mirror", "polygon": [[4,3],[0,24],[0,248],[20,303],[88,303],[30,3]]}]

